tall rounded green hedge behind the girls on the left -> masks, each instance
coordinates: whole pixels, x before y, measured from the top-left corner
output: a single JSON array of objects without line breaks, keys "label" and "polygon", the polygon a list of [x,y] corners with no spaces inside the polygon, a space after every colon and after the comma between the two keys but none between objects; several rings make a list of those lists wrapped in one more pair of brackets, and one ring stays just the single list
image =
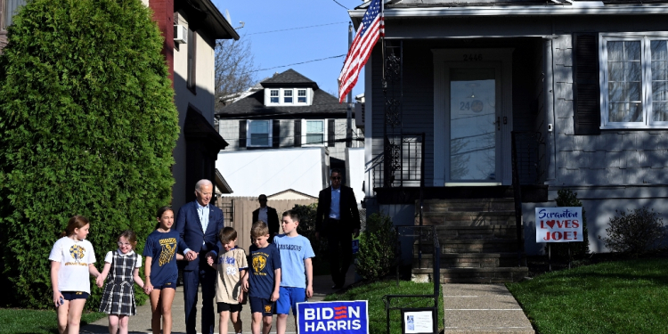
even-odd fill
[{"label": "tall rounded green hedge behind the girls on the left", "polygon": [[[178,136],[163,38],[140,0],[31,0],[0,56],[4,304],[49,307],[49,251],[91,220],[97,266],[132,229],[138,250],[174,183]],[[93,282],[93,280],[91,280]],[[92,284],[93,286],[94,284]],[[99,305],[93,289],[86,303]]]}]

